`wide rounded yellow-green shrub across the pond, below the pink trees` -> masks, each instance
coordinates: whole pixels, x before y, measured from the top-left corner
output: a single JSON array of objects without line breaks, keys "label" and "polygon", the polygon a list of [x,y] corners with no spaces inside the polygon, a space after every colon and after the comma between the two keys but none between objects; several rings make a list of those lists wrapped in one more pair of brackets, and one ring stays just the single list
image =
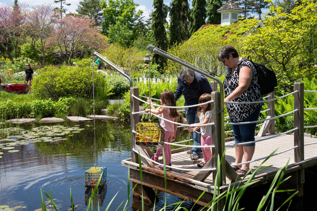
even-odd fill
[{"label": "wide rounded yellow-green shrub across the pond, below the pink trees", "polygon": [[[95,70],[94,70],[95,71]],[[92,71],[88,66],[45,67],[38,70],[40,73],[33,81],[34,94],[42,99],[60,97],[83,97],[93,96]],[[112,93],[108,91],[107,79],[100,73],[94,72],[95,96],[107,99]]]}]

